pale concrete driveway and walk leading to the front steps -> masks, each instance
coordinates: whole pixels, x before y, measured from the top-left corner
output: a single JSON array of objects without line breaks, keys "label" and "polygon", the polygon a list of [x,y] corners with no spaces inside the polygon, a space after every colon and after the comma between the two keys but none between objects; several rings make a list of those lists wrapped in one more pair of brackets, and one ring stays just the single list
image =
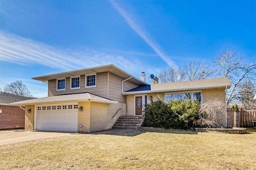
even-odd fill
[{"label": "pale concrete driveway and walk leading to the front steps", "polygon": [[94,132],[89,134],[81,133],[65,133],[65,132],[43,132],[43,131],[15,131],[15,130],[2,130],[0,131],[0,146],[12,143],[19,143],[31,141],[34,139],[44,139],[50,137],[63,137],[63,136],[76,136],[76,135],[115,135],[120,133],[127,133],[134,131],[134,129],[109,129],[106,131]]}]

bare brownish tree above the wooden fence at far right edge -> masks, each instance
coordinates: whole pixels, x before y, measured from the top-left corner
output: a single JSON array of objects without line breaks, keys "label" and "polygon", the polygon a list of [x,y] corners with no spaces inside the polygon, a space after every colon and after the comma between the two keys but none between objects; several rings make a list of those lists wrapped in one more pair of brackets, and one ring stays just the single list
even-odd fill
[{"label": "bare brownish tree above the wooden fence at far right edge", "polygon": [[256,87],[251,81],[245,82],[242,85],[242,88],[239,92],[239,100],[243,107],[249,108],[256,106],[256,99],[253,99],[255,92]]}]

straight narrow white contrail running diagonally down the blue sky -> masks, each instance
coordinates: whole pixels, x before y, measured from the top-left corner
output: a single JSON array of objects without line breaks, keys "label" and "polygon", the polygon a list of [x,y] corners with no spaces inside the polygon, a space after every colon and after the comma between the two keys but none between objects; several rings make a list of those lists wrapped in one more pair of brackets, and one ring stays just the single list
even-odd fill
[{"label": "straight narrow white contrail running diagonally down the blue sky", "polygon": [[159,57],[162,58],[169,66],[175,65],[174,62],[168,58],[163,51],[160,50],[160,47],[156,43],[154,43],[152,40],[150,40],[146,32],[136,23],[129,14],[124,11],[114,0],[110,0],[112,6],[118,11],[118,13],[126,20],[128,25],[136,32],[140,37],[159,55]]}]

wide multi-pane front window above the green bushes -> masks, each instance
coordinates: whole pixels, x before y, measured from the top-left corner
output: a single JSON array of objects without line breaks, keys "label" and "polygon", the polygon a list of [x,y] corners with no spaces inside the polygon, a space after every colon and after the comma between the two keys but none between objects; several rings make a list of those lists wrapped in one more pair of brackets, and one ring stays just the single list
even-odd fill
[{"label": "wide multi-pane front window above the green bushes", "polygon": [[[169,102],[170,100],[197,100],[202,102],[202,92],[184,92],[184,93],[166,93],[165,101]],[[193,102],[193,100],[191,100]]]}]

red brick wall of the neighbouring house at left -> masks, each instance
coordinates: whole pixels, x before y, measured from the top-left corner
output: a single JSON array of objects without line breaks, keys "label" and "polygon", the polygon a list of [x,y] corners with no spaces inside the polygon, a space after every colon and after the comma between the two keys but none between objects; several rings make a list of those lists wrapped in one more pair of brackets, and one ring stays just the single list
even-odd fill
[{"label": "red brick wall of the neighbouring house at left", "polygon": [[0,129],[24,128],[25,110],[8,105],[0,105],[0,109]]}]

